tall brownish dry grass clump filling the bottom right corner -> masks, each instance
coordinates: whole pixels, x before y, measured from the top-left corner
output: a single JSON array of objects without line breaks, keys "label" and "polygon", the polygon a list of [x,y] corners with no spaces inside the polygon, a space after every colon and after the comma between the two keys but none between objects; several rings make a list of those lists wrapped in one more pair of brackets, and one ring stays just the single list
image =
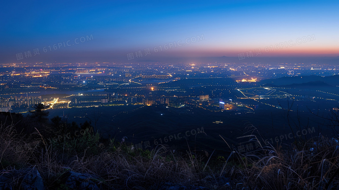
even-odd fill
[{"label": "tall brownish dry grass clump filling the bottom right corner", "polygon": [[289,146],[283,150],[280,145],[269,145],[245,154],[235,151],[234,159],[241,167],[227,173],[246,189],[339,188],[339,146],[335,139],[320,136],[302,147]]}]

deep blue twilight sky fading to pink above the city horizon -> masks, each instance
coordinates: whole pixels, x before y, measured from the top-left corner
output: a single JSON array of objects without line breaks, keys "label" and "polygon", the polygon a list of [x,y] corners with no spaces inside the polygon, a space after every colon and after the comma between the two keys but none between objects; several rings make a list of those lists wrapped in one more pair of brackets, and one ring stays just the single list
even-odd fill
[{"label": "deep blue twilight sky fading to pink above the city horizon", "polygon": [[0,15],[0,63],[339,56],[338,0],[3,1]]}]

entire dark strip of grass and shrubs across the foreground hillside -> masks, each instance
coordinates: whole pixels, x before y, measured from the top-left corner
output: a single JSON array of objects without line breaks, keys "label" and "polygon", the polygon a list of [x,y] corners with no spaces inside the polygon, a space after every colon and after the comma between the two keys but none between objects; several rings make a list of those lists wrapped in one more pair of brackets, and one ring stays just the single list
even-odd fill
[{"label": "entire dark strip of grass and shrubs across the foreground hillside", "polygon": [[[152,151],[131,149],[114,139],[104,141],[89,128],[83,130],[79,137],[47,142],[39,130],[23,134],[14,125],[2,124],[0,175],[34,167],[48,189],[65,188],[60,176],[69,170],[87,174],[104,189],[157,189],[163,183],[210,189],[339,188],[338,142],[323,136],[284,148],[261,146],[245,154],[233,150],[228,157],[212,153],[207,159],[189,147],[187,153],[162,145]],[[20,188],[19,180],[14,183]]]}]

